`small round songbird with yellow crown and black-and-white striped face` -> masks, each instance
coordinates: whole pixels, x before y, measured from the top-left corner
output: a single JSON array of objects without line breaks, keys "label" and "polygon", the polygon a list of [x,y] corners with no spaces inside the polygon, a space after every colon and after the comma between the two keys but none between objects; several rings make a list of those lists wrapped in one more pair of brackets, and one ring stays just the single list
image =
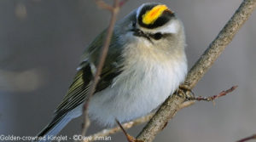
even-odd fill
[{"label": "small round songbird with yellow crown and black-and-white striped face", "polygon": [[[85,49],[67,95],[38,136],[55,136],[82,115],[105,36],[106,30]],[[119,20],[96,93],[90,98],[90,119],[113,126],[115,119],[128,122],[154,111],[184,81],[185,46],[183,23],[164,4],[144,3]]]}]

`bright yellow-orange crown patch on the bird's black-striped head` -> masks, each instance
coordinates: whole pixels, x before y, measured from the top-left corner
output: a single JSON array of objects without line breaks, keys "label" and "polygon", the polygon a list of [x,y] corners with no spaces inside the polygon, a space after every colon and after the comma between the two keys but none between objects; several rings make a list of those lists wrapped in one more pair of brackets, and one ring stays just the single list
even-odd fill
[{"label": "bright yellow-orange crown patch on the bird's black-striped head", "polygon": [[153,24],[163,12],[168,9],[166,5],[157,5],[153,9],[143,14],[143,23],[146,25]]}]

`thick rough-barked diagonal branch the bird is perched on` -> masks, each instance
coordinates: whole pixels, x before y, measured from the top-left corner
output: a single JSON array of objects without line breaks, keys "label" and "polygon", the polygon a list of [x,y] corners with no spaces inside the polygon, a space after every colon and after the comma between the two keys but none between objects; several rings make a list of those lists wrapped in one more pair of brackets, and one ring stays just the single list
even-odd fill
[{"label": "thick rough-barked diagonal branch the bird is perched on", "polygon": [[[229,22],[224,26],[222,31],[218,33],[218,37],[209,45],[201,58],[195,63],[183,83],[186,88],[192,89],[201,77],[211,68],[212,64],[217,60],[218,56],[224,51],[224,48],[232,41],[236,32],[245,23],[248,17],[253,13],[256,7],[256,0],[244,0],[239,9],[231,17]],[[143,128],[143,131],[137,135],[138,140],[151,142],[157,133],[165,128],[168,122],[178,111],[178,107],[185,100],[184,94],[172,94],[160,109],[151,118],[148,124]]]}]

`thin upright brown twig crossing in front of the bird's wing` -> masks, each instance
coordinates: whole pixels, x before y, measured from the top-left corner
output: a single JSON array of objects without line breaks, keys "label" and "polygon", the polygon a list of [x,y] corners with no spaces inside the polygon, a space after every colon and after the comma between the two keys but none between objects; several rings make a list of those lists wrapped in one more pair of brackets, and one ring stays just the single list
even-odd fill
[{"label": "thin upright brown twig crossing in front of the bird's wing", "polygon": [[[100,1],[98,1],[100,2]],[[99,6],[102,6],[103,8],[106,8],[104,6],[106,5],[99,5]],[[89,128],[89,119],[88,119],[88,105],[89,105],[89,102],[90,102],[90,97],[94,94],[95,90],[96,90],[96,85],[97,83],[99,82],[99,79],[100,79],[100,75],[102,73],[102,67],[105,63],[105,60],[106,60],[106,57],[107,57],[107,54],[108,54],[108,47],[109,47],[109,44],[110,44],[110,41],[111,41],[111,37],[113,35],[113,27],[114,27],[114,24],[116,22],[116,19],[117,19],[117,14],[119,13],[119,0],[114,0],[113,2],[113,9],[109,9],[112,16],[111,16],[111,20],[110,20],[110,24],[108,26],[108,31],[107,31],[107,36],[105,38],[105,42],[103,44],[103,47],[102,47],[102,52],[101,52],[101,55],[100,55],[100,61],[99,61],[99,64],[97,65],[97,68],[96,68],[96,75],[94,77],[94,80],[93,80],[93,83],[92,83],[92,86],[90,87],[90,91],[89,91],[89,94],[88,94],[88,99],[84,102],[84,124],[83,124],[83,129],[82,129],[82,135],[85,136],[85,133],[87,131],[87,129]]]}]

